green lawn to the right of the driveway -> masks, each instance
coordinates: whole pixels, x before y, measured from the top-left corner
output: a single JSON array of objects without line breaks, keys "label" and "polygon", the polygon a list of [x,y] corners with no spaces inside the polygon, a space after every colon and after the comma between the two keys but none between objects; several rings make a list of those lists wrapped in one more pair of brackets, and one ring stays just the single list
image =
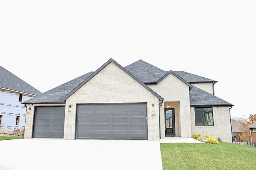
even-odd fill
[{"label": "green lawn to the right of the driveway", "polygon": [[163,170],[256,170],[256,148],[232,143],[161,143]]}]

